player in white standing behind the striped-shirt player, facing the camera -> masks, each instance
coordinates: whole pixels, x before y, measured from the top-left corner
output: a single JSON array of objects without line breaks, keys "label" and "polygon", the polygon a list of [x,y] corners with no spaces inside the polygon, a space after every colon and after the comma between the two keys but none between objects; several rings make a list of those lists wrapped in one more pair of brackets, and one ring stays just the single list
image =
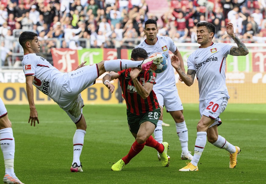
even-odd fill
[{"label": "player in white standing behind the striped-shirt player, facing the camera", "polygon": [[[165,106],[166,110],[171,114],[176,123],[176,133],[179,137],[182,148],[181,159],[191,160],[193,156],[191,155],[191,152],[188,151],[188,131],[183,116],[183,105],[177,92],[174,69],[170,64],[169,50],[180,58],[180,66],[182,70],[185,71],[182,56],[170,37],[157,36],[158,27],[155,20],[148,19],[145,22],[144,33],[147,38],[137,47],[144,48],[149,56],[155,52],[159,52],[164,54],[168,59],[167,69],[163,73],[157,74],[156,84],[153,86],[153,90],[156,93],[158,102],[161,106],[161,116],[157,123],[157,127],[154,130],[154,139],[159,143],[163,142],[162,122],[163,107]],[[158,159],[160,160],[159,154]]]}]

